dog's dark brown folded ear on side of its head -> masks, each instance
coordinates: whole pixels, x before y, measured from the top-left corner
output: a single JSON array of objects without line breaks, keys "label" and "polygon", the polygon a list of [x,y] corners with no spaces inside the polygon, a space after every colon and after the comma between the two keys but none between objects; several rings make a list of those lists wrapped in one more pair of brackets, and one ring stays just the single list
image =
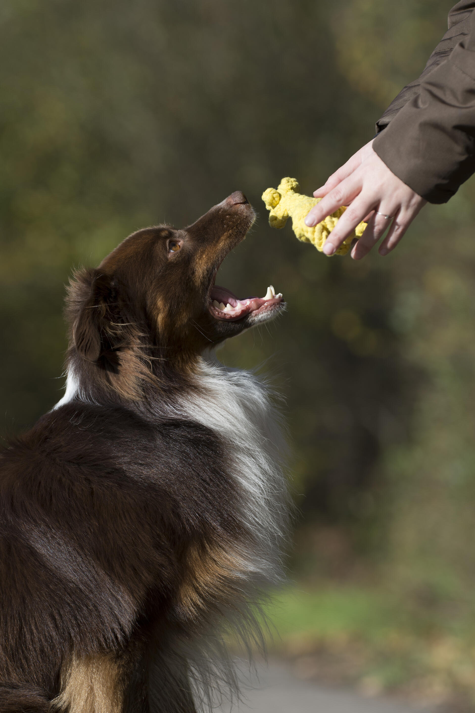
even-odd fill
[{"label": "dog's dark brown folded ear on side of its head", "polygon": [[118,371],[121,339],[117,289],[108,275],[95,270],[90,277],[90,294],[75,320],[73,341],[83,359],[99,362],[108,371]]}]

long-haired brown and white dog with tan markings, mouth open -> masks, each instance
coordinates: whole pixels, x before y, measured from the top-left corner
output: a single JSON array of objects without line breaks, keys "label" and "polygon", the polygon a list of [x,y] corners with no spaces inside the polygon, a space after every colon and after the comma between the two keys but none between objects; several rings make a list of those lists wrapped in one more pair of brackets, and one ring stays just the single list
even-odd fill
[{"label": "long-haired brown and white dog with tan markings, mouth open", "polygon": [[0,711],[193,712],[234,683],[281,576],[283,438],[266,387],[204,361],[284,302],[214,284],[239,192],[127,237],[68,289],[63,399],[0,452]]}]

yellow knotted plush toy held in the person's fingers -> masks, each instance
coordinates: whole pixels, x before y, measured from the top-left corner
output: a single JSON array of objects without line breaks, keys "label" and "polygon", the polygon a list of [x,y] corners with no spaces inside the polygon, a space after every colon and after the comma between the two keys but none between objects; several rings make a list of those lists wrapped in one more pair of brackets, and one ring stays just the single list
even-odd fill
[{"label": "yellow knotted plush toy held in the person's fingers", "polygon": [[[293,232],[295,232],[298,240],[303,242],[312,242],[313,245],[322,252],[325,240],[332,232],[335,225],[338,223],[338,218],[343,215],[346,208],[343,206],[338,208],[332,215],[329,215],[314,227],[308,227],[305,224],[305,217],[314,205],[320,202],[321,198],[310,198],[308,195],[298,193],[299,185],[296,178],[283,178],[275,188],[268,188],[262,194],[262,200],[266,204],[267,210],[271,211],[269,215],[269,225],[271,227],[283,227],[286,225],[288,217],[292,218]],[[353,235],[347,237],[343,245],[340,245],[335,255],[346,255],[350,250],[351,242],[355,237],[361,237],[365,230],[366,223],[361,222],[357,225]]]}]

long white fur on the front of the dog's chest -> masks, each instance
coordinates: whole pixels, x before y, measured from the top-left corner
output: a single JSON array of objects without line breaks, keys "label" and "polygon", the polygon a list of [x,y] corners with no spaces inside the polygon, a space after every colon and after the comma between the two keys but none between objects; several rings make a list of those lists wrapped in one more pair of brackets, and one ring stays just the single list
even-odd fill
[{"label": "long white fur on the front of the dog's chest", "polygon": [[199,396],[187,396],[182,409],[224,440],[232,474],[245,493],[241,516],[260,545],[248,566],[258,578],[276,582],[288,524],[287,445],[272,391],[254,374],[207,361],[198,379]]}]

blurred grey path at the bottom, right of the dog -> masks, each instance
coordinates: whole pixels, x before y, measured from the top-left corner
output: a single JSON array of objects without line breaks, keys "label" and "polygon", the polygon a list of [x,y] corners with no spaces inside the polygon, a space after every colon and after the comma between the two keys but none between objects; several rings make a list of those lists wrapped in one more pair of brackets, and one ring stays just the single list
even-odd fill
[{"label": "blurred grey path at the bottom, right of the dog", "polygon": [[[256,689],[244,691],[245,702],[232,708],[239,713],[435,713],[388,699],[368,699],[348,690],[330,689],[299,681],[281,662],[259,667]],[[229,713],[229,706],[220,709]]]}]

